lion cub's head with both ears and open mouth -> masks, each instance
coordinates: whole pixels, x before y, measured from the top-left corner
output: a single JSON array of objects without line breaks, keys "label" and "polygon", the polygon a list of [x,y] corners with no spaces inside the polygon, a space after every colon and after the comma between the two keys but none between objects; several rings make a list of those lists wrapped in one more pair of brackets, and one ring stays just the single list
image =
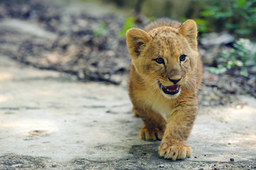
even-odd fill
[{"label": "lion cub's head with both ears and open mouth", "polygon": [[197,58],[197,27],[188,20],[179,28],[162,26],[148,33],[131,28],[126,42],[136,72],[148,86],[167,98],[179,96],[182,86],[194,89]]}]

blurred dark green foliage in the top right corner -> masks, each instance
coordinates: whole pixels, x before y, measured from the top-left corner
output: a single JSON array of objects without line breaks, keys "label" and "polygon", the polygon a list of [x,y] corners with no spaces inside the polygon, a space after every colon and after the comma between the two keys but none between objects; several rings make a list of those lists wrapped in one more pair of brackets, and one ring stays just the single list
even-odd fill
[{"label": "blurred dark green foliage in the top right corner", "polygon": [[[249,35],[256,30],[256,0],[196,0],[206,5],[202,17],[213,18],[220,27],[238,35]],[[219,22],[218,22],[219,21]]]}]

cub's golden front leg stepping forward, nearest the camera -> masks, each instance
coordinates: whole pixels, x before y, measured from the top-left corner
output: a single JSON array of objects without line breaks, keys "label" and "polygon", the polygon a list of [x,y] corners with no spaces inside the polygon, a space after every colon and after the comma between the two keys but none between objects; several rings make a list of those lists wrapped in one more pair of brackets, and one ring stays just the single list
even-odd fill
[{"label": "cub's golden front leg stepping forward, nearest the camera", "polygon": [[[195,101],[194,101],[195,102]],[[195,103],[178,104],[167,120],[165,135],[160,144],[159,154],[166,159],[185,159],[191,157],[192,149],[186,143],[197,114]]]}]

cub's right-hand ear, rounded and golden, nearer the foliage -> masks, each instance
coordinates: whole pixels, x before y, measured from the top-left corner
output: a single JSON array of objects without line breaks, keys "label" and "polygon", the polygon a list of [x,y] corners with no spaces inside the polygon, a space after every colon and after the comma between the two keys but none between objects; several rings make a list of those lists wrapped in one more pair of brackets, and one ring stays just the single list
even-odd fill
[{"label": "cub's right-hand ear, rounded and golden, nearer the foliage", "polygon": [[179,33],[187,38],[193,50],[197,50],[197,26],[193,20],[187,20],[179,27]]}]

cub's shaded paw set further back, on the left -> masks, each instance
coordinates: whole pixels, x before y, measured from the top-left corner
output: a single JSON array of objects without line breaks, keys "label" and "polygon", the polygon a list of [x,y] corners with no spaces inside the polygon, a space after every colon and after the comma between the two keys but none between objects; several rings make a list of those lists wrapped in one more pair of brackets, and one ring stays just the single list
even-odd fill
[{"label": "cub's shaded paw set further back, on the left", "polygon": [[159,128],[142,128],[140,138],[143,140],[162,140],[165,130]]}]

